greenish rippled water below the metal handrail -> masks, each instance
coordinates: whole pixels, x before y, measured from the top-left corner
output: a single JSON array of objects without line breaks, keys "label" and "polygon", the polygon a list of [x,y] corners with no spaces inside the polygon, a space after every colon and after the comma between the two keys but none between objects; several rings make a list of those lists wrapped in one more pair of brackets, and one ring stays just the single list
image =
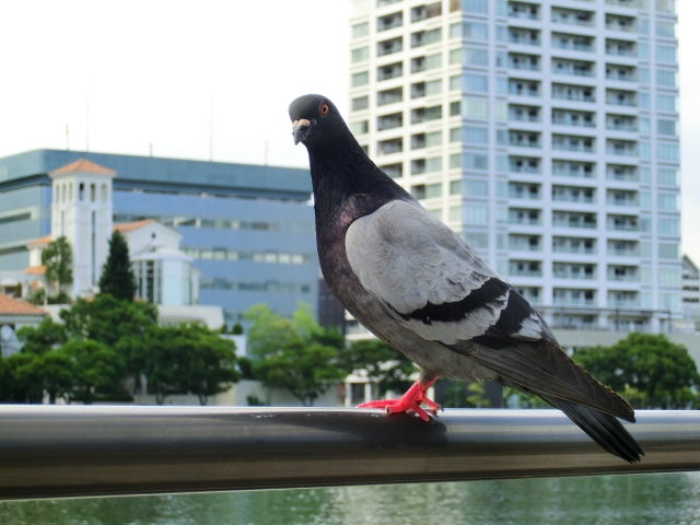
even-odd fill
[{"label": "greenish rippled water below the metal handrail", "polygon": [[700,472],[0,502],[0,523],[700,524]]}]

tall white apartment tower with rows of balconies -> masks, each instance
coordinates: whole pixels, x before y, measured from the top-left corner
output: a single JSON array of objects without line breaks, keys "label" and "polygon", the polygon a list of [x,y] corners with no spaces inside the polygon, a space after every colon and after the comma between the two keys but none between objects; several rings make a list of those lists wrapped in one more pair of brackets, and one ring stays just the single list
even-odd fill
[{"label": "tall white apartment tower with rows of balconies", "polygon": [[555,327],[680,313],[675,0],[355,0],[351,129]]}]

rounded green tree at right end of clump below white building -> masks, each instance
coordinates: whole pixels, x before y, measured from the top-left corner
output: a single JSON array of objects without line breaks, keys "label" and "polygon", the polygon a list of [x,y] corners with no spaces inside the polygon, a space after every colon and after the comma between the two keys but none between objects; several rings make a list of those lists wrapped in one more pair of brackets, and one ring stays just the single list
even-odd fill
[{"label": "rounded green tree at right end of clump below white building", "polygon": [[159,405],[173,394],[195,394],[201,405],[241,378],[235,343],[206,327],[152,327],[139,347],[143,374]]}]

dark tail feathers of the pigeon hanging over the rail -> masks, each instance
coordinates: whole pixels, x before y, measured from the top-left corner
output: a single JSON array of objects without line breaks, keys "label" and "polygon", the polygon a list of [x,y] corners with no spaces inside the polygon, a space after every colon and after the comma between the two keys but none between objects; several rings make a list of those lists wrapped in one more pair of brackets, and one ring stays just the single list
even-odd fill
[{"label": "dark tail feathers of the pigeon hanging over the rail", "polygon": [[629,463],[639,463],[640,455],[644,455],[644,450],[614,416],[555,397],[542,396],[542,399],[569,416],[581,430],[610,454]]}]

